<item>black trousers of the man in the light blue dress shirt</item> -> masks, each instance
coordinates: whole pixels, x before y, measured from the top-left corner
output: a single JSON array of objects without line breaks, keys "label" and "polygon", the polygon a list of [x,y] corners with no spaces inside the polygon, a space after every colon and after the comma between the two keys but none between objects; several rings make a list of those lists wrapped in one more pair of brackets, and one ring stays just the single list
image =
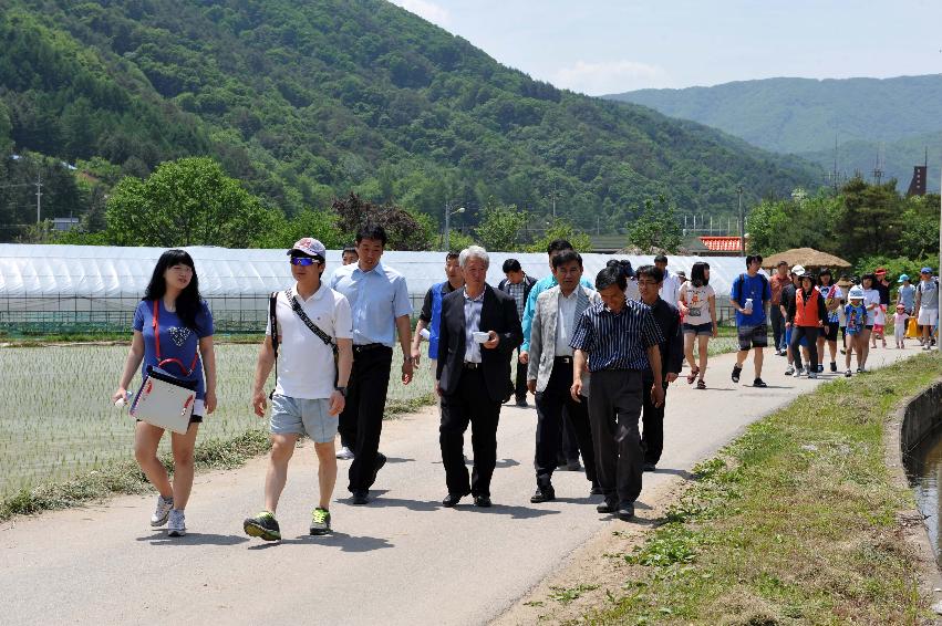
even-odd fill
[{"label": "black trousers of the man in the light blue dress shirt", "polygon": [[341,441],[352,441],[354,446],[348,486],[351,492],[369,490],[373,484],[392,364],[391,347],[360,349],[353,346],[353,371],[338,424]]}]

